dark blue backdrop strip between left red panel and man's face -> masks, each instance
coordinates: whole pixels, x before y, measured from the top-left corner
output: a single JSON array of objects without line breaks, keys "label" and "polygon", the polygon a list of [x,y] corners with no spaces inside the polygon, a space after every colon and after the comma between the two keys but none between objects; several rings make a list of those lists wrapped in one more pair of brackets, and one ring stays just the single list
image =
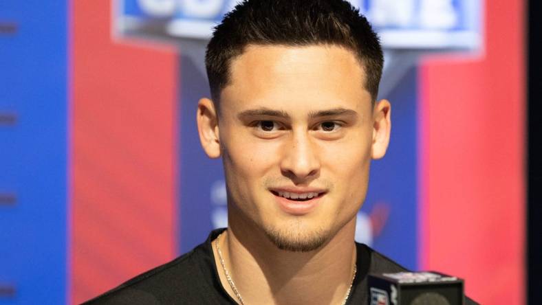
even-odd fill
[{"label": "dark blue backdrop strip between left red panel and man's face", "polygon": [[[203,56],[203,54],[202,54]],[[197,135],[197,101],[210,97],[207,77],[188,56],[180,58],[180,252],[207,238],[213,224],[211,188],[224,179],[220,159],[209,159]]]}]

